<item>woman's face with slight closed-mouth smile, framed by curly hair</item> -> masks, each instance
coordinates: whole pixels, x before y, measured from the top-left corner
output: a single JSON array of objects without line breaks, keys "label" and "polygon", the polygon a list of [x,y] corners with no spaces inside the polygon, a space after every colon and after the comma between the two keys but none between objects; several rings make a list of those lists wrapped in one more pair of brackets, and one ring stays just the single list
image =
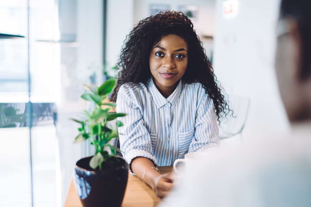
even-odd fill
[{"label": "woman's face with slight closed-mouth smile, framed by curly hair", "polygon": [[152,48],[149,66],[156,86],[171,88],[185,74],[188,65],[188,44],[177,35],[164,36]]}]

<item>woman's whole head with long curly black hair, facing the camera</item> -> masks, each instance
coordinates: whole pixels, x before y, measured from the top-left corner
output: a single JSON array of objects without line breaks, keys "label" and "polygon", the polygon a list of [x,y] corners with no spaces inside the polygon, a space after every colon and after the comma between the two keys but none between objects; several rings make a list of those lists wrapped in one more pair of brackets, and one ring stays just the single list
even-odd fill
[{"label": "woman's whole head with long curly black hair, facing the camera", "polygon": [[[202,42],[191,20],[182,12],[160,12],[139,21],[124,42],[118,60],[117,86],[111,96],[116,101],[124,83],[144,83],[153,77],[157,87],[202,83],[213,100],[218,118],[229,112]],[[160,86],[160,87],[159,87]]]}]

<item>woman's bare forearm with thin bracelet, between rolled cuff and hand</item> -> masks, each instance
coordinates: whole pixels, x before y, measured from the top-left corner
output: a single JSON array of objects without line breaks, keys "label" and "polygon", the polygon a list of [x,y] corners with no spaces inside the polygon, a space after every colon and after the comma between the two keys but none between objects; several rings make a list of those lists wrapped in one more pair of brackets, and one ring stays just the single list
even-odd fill
[{"label": "woman's bare forearm with thin bracelet, between rolled cuff and hand", "polygon": [[[142,180],[142,175],[143,173],[152,168],[155,167],[154,164],[152,163],[151,160],[145,157],[136,157],[132,160],[131,162],[131,168],[133,173],[136,174],[138,178]],[[155,188],[155,182],[156,179],[160,176],[161,174],[156,171],[156,169],[150,169],[148,170],[145,175],[144,175],[144,181],[153,189]]]}]

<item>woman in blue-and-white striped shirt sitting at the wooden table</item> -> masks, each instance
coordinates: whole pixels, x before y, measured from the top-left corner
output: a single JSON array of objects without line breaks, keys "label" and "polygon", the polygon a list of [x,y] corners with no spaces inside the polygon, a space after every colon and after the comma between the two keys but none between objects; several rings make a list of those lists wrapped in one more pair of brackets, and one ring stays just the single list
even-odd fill
[{"label": "woman in blue-and-white striped shirt sitting at the wooden table", "polygon": [[181,12],[141,20],[127,36],[112,101],[130,170],[164,197],[172,188],[157,165],[219,143],[217,119],[229,108],[193,24]]}]

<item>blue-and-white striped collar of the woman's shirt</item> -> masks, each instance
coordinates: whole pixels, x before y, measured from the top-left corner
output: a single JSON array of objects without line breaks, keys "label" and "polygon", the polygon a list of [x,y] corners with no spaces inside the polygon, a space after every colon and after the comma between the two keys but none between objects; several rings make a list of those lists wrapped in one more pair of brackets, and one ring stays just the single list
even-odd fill
[{"label": "blue-and-white striped collar of the woman's shirt", "polygon": [[167,99],[164,96],[162,96],[158,88],[156,88],[156,85],[153,82],[152,77],[148,81],[148,87],[149,87],[149,92],[151,93],[151,96],[156,103],[156,106],[160,108],[164,106],[165,104],[167,104],[168,102],[171,103],[172,105],[176,104],[181,94],[182,83],[181,83],[181,80],[179,80],[179,83],[177,87],[175,88],[174,92],[169,97],[167,97]]}]

